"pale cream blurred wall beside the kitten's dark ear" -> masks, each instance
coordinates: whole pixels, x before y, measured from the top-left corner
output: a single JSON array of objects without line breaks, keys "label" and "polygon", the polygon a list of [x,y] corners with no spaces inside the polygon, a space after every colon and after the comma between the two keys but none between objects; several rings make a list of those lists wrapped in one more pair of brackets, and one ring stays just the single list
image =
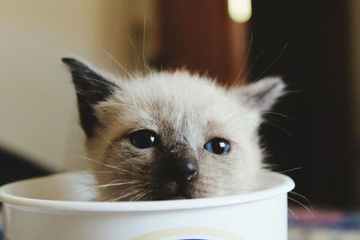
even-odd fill
[{"label": "pale cream blurred wall beside the kitten's dark ear", "polygon": [[60,58],[81,56],[121,73],[103,48],[133,67],[136,58],[129,38],[135,48],[142,46],[135,35],[143,15],[153,17],[149,3],[2,0],[0,146],[53,170],[78,165],[81,160],[75,156],[83,154],[84,135],[77,124],[73,85]]}]

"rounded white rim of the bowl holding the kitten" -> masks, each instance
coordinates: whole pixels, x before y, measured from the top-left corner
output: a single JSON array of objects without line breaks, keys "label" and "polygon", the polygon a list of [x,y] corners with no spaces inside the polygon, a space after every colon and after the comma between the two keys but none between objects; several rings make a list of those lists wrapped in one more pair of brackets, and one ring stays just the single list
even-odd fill
[{"label": "rounded white rim of the bowl holding the kitten", "polygon": [[272,188],[247,193],[202,198],[192,200],[154,200],[154,201],[71,201],[71,200],[40,200],[15,196],[7,191],[16,185],[29,181],[45,180],[46,178],[67,176],[74,173],[57,173],[45,177],[32,178],[18,182],[5,184],[0,188],[0,201],[5,205],[14,208],[31,209],[51,209],[51,210],[70,210],[70,211],[89,211],[89,212],[129,212],[129,211],[161,211],[161,210],[181,210],[181,209],[204,209],[213,207],[223,207],[235,204],[249,203],[258,200],[266,200],[292,191],[295,184],[293,180],[282,174],[275,172],[264,172],[267,177],[280,180],[281,183]]}]

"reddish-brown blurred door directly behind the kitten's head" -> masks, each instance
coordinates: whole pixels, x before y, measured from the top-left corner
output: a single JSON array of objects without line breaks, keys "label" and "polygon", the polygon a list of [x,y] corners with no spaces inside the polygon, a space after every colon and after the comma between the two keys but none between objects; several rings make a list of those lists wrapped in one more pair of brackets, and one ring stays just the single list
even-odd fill
[{"label": "reddish-brown blurred door directly behind the kitten's head", "polygon": [[247,24],[230,20],[227,1],[157,0],[157,6],[164,67],[186,67],[224,84],[232,83],[245,68]]}]

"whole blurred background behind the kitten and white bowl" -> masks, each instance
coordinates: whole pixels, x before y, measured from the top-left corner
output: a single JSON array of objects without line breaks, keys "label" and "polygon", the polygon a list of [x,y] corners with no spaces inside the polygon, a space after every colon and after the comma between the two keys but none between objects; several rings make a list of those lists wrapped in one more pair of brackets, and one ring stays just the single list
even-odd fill
[{"label": "whole blurred background behind the kitten and white bowl", "polygon": [[311,202],[289,195],[292,239],[360,239],[359,1],[2,0],[0,32],[0,183],[84,165],[64,56],[118,75],[112,58],[222,84],[283,76],[260,134],[267,163]]}]

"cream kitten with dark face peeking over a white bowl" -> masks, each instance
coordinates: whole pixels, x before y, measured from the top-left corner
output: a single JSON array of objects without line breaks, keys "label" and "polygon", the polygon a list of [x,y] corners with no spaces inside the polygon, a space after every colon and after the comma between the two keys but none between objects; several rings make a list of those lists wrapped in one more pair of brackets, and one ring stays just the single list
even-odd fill
[{"label": "cream kitten with dark face peeking over a white bowl", "polygon": [[184,71],[119,79],[62,58],[76,88],[99,200],[175,200],[249,191],[262,168],[258,127],[278,78],[225,88]]}]

